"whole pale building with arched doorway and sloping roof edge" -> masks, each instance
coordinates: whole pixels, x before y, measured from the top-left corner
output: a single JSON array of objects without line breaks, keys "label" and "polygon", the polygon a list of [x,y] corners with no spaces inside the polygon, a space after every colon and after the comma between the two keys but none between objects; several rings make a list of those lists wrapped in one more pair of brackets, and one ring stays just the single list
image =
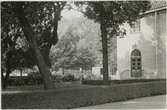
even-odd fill
[{"label": "whole pale building with arched doorway and sloping roof edge", "polygon": [[[154,1],[152,8],[132,27],[128,24],[122,26],[127,34],[123,38],[119,36],[115,38],[117,43],[111,56],[116,60],[109,63],[112,67],[110,69],[112,79],[166,78],[166,10],[166,1]],[[134,63],[131,59],[132,51],[135,49],[141,53],[140,63]],[[138,77],[132,75],[132,69],[135,68],[133,64],[141,70],[142,74]]]}]

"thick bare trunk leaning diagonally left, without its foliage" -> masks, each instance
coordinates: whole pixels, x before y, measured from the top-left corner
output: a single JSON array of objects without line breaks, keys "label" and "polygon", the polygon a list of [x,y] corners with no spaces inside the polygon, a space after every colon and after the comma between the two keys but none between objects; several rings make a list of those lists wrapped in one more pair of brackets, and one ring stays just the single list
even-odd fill
[{"label": "thick bare trunk leaning diagonally left, without its foliage", "polygon": [[44,58],[41,55],[41,52],[38,48],[32,27],[29,24],[27,18],[25,17],[24,9],[22,8],[22,3],[17,3],[15,8],[16,8],[15,12],[16,12],[16,15],[20,21],[21,26],[22,26],[24,35],[27,38],[27,40],[29,41],[30,46],[33,48],[33,50],[35,52],[34,54],[35,54],[36,59],[37,59],[37,66],[39,68],[39,71],[40,71],[43,79],[44,79],[44,88],[45,89],[52,89],[54,87],[54,84],[52,82],[51,72],[50,72],[48,66],[45,64]]}]

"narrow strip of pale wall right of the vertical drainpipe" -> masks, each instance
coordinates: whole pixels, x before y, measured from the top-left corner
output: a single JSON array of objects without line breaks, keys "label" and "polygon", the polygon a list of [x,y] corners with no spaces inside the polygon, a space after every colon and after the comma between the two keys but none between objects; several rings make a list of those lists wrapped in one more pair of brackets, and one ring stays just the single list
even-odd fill
[{"label": "narrow strip of pale wall right of the vertical drainpipe", "polygon": [[167,12],[159,11],[157,14],[157,37],[158,37],[158,77],[165,77],[166,74],[166,37],[167,37]]}]

